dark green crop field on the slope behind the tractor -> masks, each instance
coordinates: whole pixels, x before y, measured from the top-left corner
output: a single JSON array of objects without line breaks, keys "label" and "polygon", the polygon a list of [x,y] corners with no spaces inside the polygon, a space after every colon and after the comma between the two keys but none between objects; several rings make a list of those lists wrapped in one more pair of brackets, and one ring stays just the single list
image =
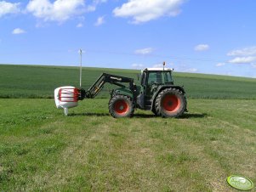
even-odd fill
[{"label": "dark green crop field on the slope behind the tractor", "polygon": [[[53,98],[55,88],[66,85],[79,87],[78,67],[0,65],[0,71],[0,98]],[[139,85],[137,75],[140,71],[84,67],[82,88],[90,88],[103,72],[134,78]],[[173,76],[175,85],[185,87],[188,99],[256,99],[255,78],[175,71]],[[105,84],[98,98],[108,98],[112,88]]]}]

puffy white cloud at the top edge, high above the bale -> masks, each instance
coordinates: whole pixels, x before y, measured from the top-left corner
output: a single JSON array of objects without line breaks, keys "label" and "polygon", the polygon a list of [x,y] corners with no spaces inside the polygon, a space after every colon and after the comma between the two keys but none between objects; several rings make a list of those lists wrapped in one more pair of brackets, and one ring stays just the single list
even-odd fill
[{"label": "puffy white cloud at the top edge, high above the bale", "polygon": [[45,21],[64,22],[75,15],[84,13],[84,0],[31,0],[26,9]]}]

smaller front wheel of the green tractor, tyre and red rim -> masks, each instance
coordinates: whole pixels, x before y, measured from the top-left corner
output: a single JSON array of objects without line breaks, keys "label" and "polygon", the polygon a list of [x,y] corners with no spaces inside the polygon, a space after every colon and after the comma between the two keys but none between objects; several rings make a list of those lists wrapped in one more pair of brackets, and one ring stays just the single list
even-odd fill
[{"label": "smaller front wheel of the green tractor, tyre and red rim", "polygon": [[134,104],[125,95],[116,95],[110,99],[109,111],[114,118],[134,116]]}]

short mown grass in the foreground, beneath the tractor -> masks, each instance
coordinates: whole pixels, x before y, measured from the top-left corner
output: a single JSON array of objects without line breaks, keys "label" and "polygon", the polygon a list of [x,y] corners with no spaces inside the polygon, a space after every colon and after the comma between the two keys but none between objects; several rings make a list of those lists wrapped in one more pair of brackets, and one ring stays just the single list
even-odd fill
[{"label": "short mown grass in the foreground, beneath the tractor", "polygon": [[64,116],[54,99],[0,99],[0,191],[235,191],[256,182],[255,100],[189,99],[162,119],[114,119],[108,99]]}]

